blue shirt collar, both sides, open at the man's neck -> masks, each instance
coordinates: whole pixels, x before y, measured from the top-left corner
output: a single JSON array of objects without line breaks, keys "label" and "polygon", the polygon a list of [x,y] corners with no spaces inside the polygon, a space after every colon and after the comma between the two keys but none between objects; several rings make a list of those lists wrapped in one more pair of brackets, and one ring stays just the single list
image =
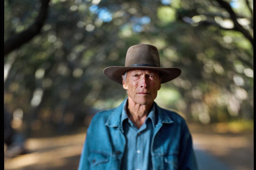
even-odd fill
[{"label": "blue shirt collar, both sides, open at the man's neck", "polygon": [[[122,130],[123,130],[123,121],[128,118],[128,116],[126,114],[127,113],[127,111],[126,111],[127,100],[128,100],[128,98],[126,98],[124,101],[123,109],[122,109],[122,113],[121,113],[121,129]],[[155,128],[155,122],[156,122],[156,120],[155,120],[155,102],[153,103],[153,107],[151,108],[151,111],[149,112],[148,117],[146,118],[145,121],[147,121],[148,118],[151,119],[153,128]]]}]

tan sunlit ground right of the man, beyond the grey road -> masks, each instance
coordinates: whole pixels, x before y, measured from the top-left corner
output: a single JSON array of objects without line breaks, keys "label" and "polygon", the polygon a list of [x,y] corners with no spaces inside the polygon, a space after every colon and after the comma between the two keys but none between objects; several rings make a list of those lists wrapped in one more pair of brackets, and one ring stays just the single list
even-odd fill
[{"label": "tan sunlit ground right of the man, beyond the grey road", "polygon": [[196,150],[210,153],[231,169],[253,169],[253,132],[242,134],[237,131],[237,133],[230,133],[232,128],[227,128],[227,124],[208,127],[195,124],[188,125]]}]

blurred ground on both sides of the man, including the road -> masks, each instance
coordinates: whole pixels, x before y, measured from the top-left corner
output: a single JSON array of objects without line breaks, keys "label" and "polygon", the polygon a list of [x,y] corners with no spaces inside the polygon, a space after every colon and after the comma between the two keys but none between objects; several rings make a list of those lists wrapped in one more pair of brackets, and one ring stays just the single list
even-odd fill
[{"label": "blurred ground on both sides of the man, including the road", "polygon": [[[197,131],[191,126],[199,170],[251,170],[253,133],[216,134]],[[29,138],[27,154],[5,158],[5,170],[76,170],[85,133],[47,138]]]}]

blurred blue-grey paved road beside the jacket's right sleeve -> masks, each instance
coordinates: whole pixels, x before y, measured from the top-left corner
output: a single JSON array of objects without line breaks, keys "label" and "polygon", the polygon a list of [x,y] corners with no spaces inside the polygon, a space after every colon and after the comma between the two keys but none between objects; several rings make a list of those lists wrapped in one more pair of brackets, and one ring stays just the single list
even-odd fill
[{"label": "blurred blue-grey paved road beside the jacket's right sleeve", "polygon": [[194,145],[195,155],[197,158],[198,170],[231,170],[220,160]]}]

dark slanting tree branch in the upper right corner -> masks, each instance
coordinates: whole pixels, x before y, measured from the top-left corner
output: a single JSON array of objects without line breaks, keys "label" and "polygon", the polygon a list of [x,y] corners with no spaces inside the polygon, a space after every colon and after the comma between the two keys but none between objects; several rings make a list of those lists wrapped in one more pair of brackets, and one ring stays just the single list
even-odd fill
[{"label": "dark slanting tree branch in the upper right corner", "polygon": [[223,0],[216,0],[221,6],[222,8],[226,9],[227,12],[230,15],[230,18],[232,19],[232,21],[234,22],[234,29],[236,31],[241,32],[242,34],[244,34],[244,36],[251,42],[251,45],[253,46],[253,38],[251,36],[251,34],[244,29],[238,22],[237,22],[237,16],[235,14],[235,12],[233,11],[233,9],[231,8],[231,6],[229,5],[228,2],[223,1]]}]

